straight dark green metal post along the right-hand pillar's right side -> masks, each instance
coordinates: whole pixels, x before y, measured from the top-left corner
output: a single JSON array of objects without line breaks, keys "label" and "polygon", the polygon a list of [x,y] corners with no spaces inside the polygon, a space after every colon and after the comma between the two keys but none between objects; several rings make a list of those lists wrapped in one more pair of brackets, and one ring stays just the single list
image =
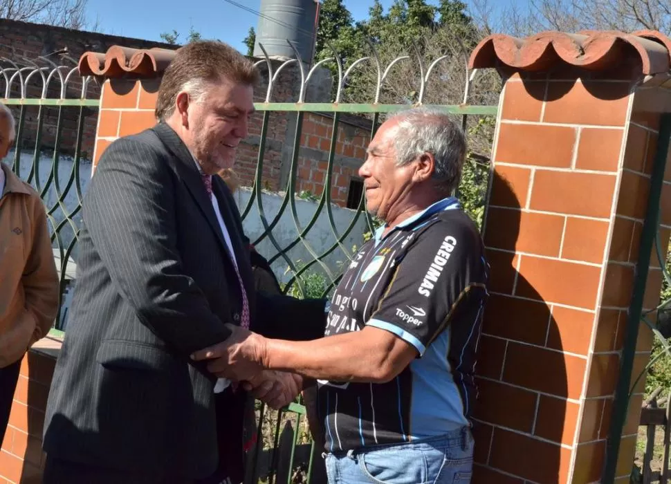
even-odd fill
[{"label": "straight dark green metal post along the right-hand pillar's right side", "polygon": [[[606,462],[602,476],[603,483],[615,481],[617,473],[618,453],[620,440],[627,418],[629,407],[629,383],[632,380],[632,367],[636,355],[636,340],[638,339],[638,326],[641,324],[641,313],[643,311],[643,296],[645,295],[645,283],[647,272],[650,268],[650,257],[652,244],[659,225],[659,204],[661,199],[662,185],[664,183],[664,171],[666,169],[666,156],[671,138],[671,113],[661,115],[659,126],[659,141],[657,152],[654,156],[654,165],[650,178],[650,197],[647,201],[647,212],[643,222],[643,233],[641,234],[641,245],[638,248],[638,261],[636,263],[636,276],[634,279],[634,293],[627,313],[627,327],[625,331],[625,344],[620,358],[620,375],[615,391],[615,402],[613,405],[613,417],[608,434]],[[660,261],[662,263],[662,261]]]}]

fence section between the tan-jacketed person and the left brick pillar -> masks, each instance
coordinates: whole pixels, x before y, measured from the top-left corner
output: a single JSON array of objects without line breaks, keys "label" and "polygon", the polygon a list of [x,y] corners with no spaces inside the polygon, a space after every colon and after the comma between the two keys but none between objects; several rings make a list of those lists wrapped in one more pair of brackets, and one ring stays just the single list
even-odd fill
[{"label": "fence section between the tan-jacketed person and the left brick pillar", "polygon": [[95,82],[78,75],[74,59],[63,59],[72,66],[57,65],[47,58],[0,59],[0,100],[16,120],[11,166],[37,189],[46,205],[59,271],[57,328],[64,316],[64,296],[75,277],[81,202],[91,174],[100,105]]}]

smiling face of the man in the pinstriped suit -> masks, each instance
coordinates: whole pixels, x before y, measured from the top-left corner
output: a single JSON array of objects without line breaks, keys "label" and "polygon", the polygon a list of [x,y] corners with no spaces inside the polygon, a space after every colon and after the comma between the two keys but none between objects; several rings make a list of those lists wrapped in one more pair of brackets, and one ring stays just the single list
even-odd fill
[{"label": "smiling face of the man in the pinstriped suit", "polygon": [[186,92],[177,96],[181,138],[206,174],[234,165],[235,151],[248,134],[254,112],[253,95],[252,86],[222,79],[205,84],[205,93],[196,102]]}]

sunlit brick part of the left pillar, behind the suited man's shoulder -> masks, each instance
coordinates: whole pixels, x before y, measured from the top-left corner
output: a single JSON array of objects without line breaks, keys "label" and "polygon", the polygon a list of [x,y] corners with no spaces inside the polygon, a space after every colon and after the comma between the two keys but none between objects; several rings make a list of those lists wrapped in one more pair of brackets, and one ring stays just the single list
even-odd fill
[{"label": "sunlit brick part of the left pillar, behind the suited man's shoulder", "polygon": [[122,136],[140,133],[156,124],[154,109],[160,79],[108,79],[100,95],[98,131],[95,133],[93,170],[103,151]]}]

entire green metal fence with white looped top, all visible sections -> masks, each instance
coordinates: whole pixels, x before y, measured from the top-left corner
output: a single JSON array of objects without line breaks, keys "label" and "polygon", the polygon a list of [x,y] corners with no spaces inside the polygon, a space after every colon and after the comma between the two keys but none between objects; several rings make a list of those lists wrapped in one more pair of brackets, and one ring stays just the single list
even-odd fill
[{"label": "entire green metal fence with white looped top, all visible sections", "polygon": [[[257,167],[254,181],[250,188],[248,200],[240,207],[243,220],[250,223],[257,218],[261,230],[257,232],[252,243],[265,243],[270,263],[275,267],[287,268],[288,278],[283,281],[284,292],[294,295],[325,295],[338,283],[342,273],[341,267],[351,258],[352,247],[347,245],[348,237],[353,234],[355,227],[361,226],[372,231],[375,221],[365,212],[364,198],[360,197],[358,205],[349,212],[349,220],[337,223],[331,187],[333,185],[334,167],[338,165],[336,145],[338,132],[342,128],[342,115],[356,114],[365,117],[371,126],[368,137],[372,138],[376,128],[388,113],[393,113],[411,106],[410,97],[415,104],[430,104],[459,117],[463,129],[468,132],[472,150],[467,169],[471,171],[466,176],[476,173],[475,178],[469,178],[468,183],[479,183],[486,186],[489,173],[486,158],[493,136],[494,118],[497,113],[498,91],[495,83],[486,84],[478,88],[479,74],[468,71],[463,67],[466,53],[457,53],[454,56],[442,56],[438,59],[422,59],[421,56],[409,56],[389,59],[383,66],[373,50],[371,57],[357,59],[343,69],[342,62],[337,55],[333,59],[325,59],[313,66],[309,71],[295,61],[287,61],[277,66],[277,63],[268,59],[257,62],[259,69],[266,75],[266,96],[261,102],[255,103],[261,113],[261,136],[257,153]],[[61,287],[61,305],[57,316],[56,328],[62,328],[66,321],[68,295],[71,283],[75,279],[77,261],[77,236],[80,230],[80,212],[82,198],[86,192],[86,185],[91,176],[91,158],[95,127],[100,106],[100,88],[90,78],[78,75],[76,62],[67,59],[72,66],[58,66],[48,59],[0,59],[0,95],[1,101],[15,111],[17,119],[17,148],[12,154],[12,169],[21,178],[28,181],[42,196],[48,212],[48,221],[53,242],[54,257],[59,268]],[[306,102],[306,93],[309,91],[310,80],[315,72],[323,68],[324,62],[331,62],[333,73],[333,93],[330,99],[323,102]],[[426,62],[426,61],[429,62]],[[387,89],[393,81],[394,68],[403,63],[410,63],[408,70],[396,75],[414,75],[416,91],[414,95],[398,98],[398,93],[390,93],[394,89]],[[360,71],[365,64],[372,66],[368,71]],[[455,67],[456,66],[456,67]],[[459,67],[461,66],[461,67]],[[274,84],[279,74],[294,69],[297,75],[297,95],[292,100],[275,100],[273,98]],[[459,71],[461,69],[461,71]],[[368,102],[342,102],[348,96],[351,87],[350,79],[358,73],[358,80],[367,78],[370,83],[370,98]],[[405,73],[405,74],[404,74]],[[408,74],[410,73],[410,74]],[[414,73],[414,74],[413,74]],[[481,74],[480,74],[481,75]],[[432,84],[435,82],[436,84]],[[461,83],[463,89],[459,98],[444,99],[442,91],[445,82]],[[442,83],[442,84],[441,84]],[[433,85],[433,88],[432,88]],[[3,93],[3,94],[2,94]],[[396,97],[394,97],[396,95]],[[474,103],[469,104],[469,102]],[[266,141],[268,129],[272,120],[272,113],[293,113],[293,146],[282,165],[288,167],[288,177],[284,192],[279,194],[279,207],[271,213],[264,205],[264,163],[267,162]],[[308,113],[329,113],[331,115],[331,142],[327,156],[327,168],[324,178],[322,194],[313,201],[311,214],[307,218],[300,216],[297,197],[299,153],[304,118]],[[671,346],[664,335],[659,332],[652,317],[664,313],[671,304],[671,298],[665,298],[654,311],[643,310],[643,295],[647,281],[647,268],[650,266],[652,248],[656,248],[656,257],[659,261],[665,260],[665,241],[661,241],[659,230],[659,203],[665,160],[671,136],[671,115],[664,115],[659,132],[658,152],[654,158],[652,185],[650,189],[650,205],[648,206],[643,226],[640,252],[636,270],[636,286],[634,297],[629,308],[625,335],[625,347],[621,357],[621,375],[616,391],[616,401],[612,418],[611,430],[605,464],[603,482],[612,482],[616,473],[618,447],[620,436],[627,414],[627,406],[632,389],[636,382],[643,377],[654,360],[646,366],[641,375],[634,375],[632,382],[632,368],[636,353],[636,339],[640,324],[646,324],[662,342],[665,352],[658,357],[671,354]],[[477,146],[482,149],[478,150]],[[485,160],[482,162],[481,160]],[[480,161],[479,161],[480,160]],[[363,160],[361,160],[363,161]],[[468,170],[467,170],[468,171]],[[475,182],[473,180],[476,180]],[[470,187],[469,187],[470,188]],[[478,193],[481,194],[478,198]],[[470,209],[477,218],[477,210],[484,205],[484,193],[475,191],[475,195],[468,192],[471,200]],[[289,220],[283,218],[289,215]],[[318,222],[326,219],[331,235],[331,243],[317,248],[311,242],[311,234],[318,227]],[[280,241],[278,232],[291,225],[296,236],[289,241]],[[357,232],[359,233],[359,232]],[[351,239],[351,237],[350,237]],[[357,243],[361,243],[358,240]],[[300,263],[292,258],[292,250],[301,248],[309,254],[307,260]],[[342,262],[333,264],[333,254],[339,254]],[[331,262],[329,262],[329,258]],[[338,257],[336,257],[338,259]],[[663,263],[660,264],[665,278],[665,287],[671,286],[671,275]],[[311,277],[318,274],[318,283],[312,283]],[[277,274],[282,276],[283,274]],[[58,329],[55,331],[59,334]],[[275,483],[310,483],[315,482],[313,465],[319,462],[316,457],[321,449],[315,447],[306,431],[306,408],[301,402],[289,405],[277,414],[269,411],[264,404],[257,402],[257,415],[260,425],[257,430],[257,445],[248,456],[248,474],[246,484],[261,482]],[[318,480],[318,479],[316,479]]]}]

